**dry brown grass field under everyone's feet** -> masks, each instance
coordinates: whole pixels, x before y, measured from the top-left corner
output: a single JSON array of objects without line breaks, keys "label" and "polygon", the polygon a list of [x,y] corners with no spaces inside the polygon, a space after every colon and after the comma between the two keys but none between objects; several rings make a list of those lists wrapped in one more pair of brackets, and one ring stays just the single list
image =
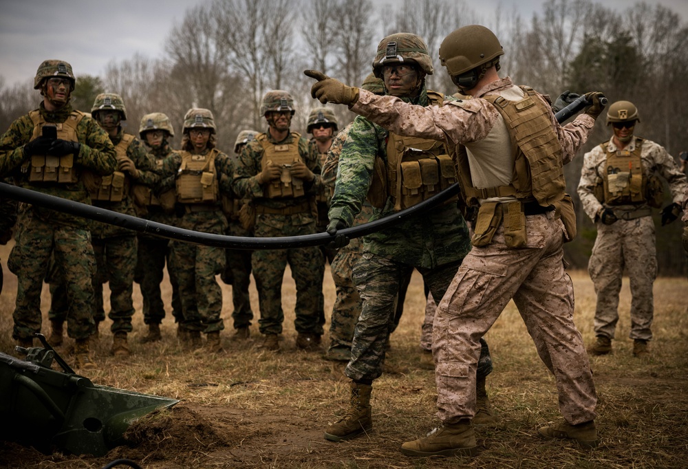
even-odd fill
[{"label": "dry brown grass field under everyone's feet", "polygon": [[[0,351],[5,353],[12,349],[16,290],[16,281],[6,270],[8,252],[8,248],[0,250],[6,272],[0,296]],[[594,290],[586,272],[572,272],[572,279],[576,322],[590,344]],[[111,335],[101,327],[103,338],[96,349],[99,368],[89,378],[182,402],[171,412],[132,426],[129,446],[116,448],[105,458],[45,456],[0,443],[0,466],[98,468],[116,457],[130,457],[146,468],[682,468],[688,456],[687,287],[686,279],[656,281],[655,340],[649,358],[638,360],[632,357],[632,341],[627,338],[630,292],[625,279],[614,353],[591,360],[600,397],[597,422],[602,443],[596,450],[535,438],[539,424],[559,417],[555,382],[510,303],[486,337],[495,364],[488,391],[499,425],[477,431],[480,454],[472,459],[413,459],[398,452],[403,441],[438,423],[433,373],[417,367],[424,308],[420,276],[411,281],[405,314],[391,337],[389,353],[392,363],[409,367],[409,372],[383,375],[375,382],[374,432],[341,444],[325,441],[323,430],[345,406],[347,382],[338,379],[339,367],[319,353],[295,349],[294,286],[289,275],[283,286],[285,340],[278,354],[259,351],[253,340],[247,345],[232,339],[231,287],[226,285],[225,353],[183,351],[171,318],[164,320],[162,342],[141,345],[137,339],[144,334],[144,325],[135,287],[139,312],[131,334],[133,356],[126,362],[109,356]],[[169,310],[169,290],[166,294]],[[327,276],[328,312],[333,301],[334,287]],[[253,287],[252,304],[257,312]],[[43,312],[45,317],[47,296]],[[49,329],[45,319],[44,334]],[[254,325],[252,338],[257,336]]]}]

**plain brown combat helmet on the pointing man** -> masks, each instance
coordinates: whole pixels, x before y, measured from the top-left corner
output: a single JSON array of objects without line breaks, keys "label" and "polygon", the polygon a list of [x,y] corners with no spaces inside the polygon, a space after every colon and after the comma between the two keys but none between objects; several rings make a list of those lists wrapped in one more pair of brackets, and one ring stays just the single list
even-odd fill
[{"label": "plain brown combat helmet on the pointing man", "polygon": [[[440,44],[440,63],[447,67],[447,73],[460,87],[470,88],[471,81],[477,83],[485,70],[493,65],[499,70],[499,56],[502,55],[504,48],[497,36],[481,25],[459,28],[449,33]],[[474,72],[473,76],[461,77],[468,72]]]}]

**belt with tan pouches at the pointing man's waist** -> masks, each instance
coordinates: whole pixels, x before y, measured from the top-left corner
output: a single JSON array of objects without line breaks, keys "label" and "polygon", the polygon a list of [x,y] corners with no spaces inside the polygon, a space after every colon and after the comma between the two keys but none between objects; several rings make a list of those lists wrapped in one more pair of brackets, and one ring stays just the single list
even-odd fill
[{"label": "belt with tan pouches at the pointing man's waist", "polygon": [[541,215],[555,210],[554,206],[543,207],[535,201],[484,202],[477,212],[475,234],[471,244],[477,248],[488,246],[502,223],[504,243],[507,248],[524,248],[528,243],[526,217]]}]

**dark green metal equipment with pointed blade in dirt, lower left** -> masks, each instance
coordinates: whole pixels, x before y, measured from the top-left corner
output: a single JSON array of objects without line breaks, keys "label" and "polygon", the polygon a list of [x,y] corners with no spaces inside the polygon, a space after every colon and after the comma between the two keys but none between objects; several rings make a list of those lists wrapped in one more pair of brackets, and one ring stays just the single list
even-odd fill
[{"label": "dark green metal equipment with pointed blade in dirt, lower left", "polygon": [[[45,348],[31,347],[19,360],[0,352],[0,439],[50,454],[103,456],[122,444],[125,430],[140,417],[179,401],[93,384],[77,375],[36,334]],[[63,371],[51,369],[53,360]]]}]

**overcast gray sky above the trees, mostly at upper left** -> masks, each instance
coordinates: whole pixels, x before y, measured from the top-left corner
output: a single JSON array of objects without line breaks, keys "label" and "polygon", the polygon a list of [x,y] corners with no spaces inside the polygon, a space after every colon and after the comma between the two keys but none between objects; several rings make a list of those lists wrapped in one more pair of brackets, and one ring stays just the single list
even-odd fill
[{"label": "overcast gray sky above the trees, mostly at upper left", "polygon": [[[110,61],[164,54],[164,40],[187,9],[208,0],[2,0],[0,14],[0,76],[6,85],[32,80],[46,58],[72,64],[75,74],[101,75]],[[390,4],[400,0],[383,0]],[[379,0],[378,0],[379,2]],[[376,2],[376,3],[378,3]],[[516,5],[530,19],[544,0],[480,0],[469,2],[486,19],[501,6]],[[623,10],[631,0],[604,0]],[[648,0],[661,3],[688,21],[688,0]],[[488,20],[487,20],[488,21]]]}]

